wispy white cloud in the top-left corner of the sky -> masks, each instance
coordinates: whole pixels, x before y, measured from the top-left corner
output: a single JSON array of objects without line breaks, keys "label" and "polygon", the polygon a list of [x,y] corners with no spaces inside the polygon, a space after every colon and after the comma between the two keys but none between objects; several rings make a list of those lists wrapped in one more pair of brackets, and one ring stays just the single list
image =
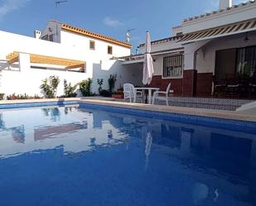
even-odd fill
[{"label": "wispy white cloud in the top-left corner of the sky", "polygon": [[3,0],[0,5],[0,20],[7,16],[8,13],[20,9],[31,0]]}]

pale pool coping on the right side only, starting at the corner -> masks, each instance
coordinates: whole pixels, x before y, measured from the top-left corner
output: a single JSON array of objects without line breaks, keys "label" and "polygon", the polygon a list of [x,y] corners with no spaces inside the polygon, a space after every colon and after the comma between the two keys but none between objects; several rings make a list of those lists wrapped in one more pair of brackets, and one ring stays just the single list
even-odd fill
[{"label": "pale pool coping on the right side only, starting at the corner", "polygon": [[78,103],[90,103],[101,106],[112,106],[119,108],[130,108],[138,110],[146,110],[151,112],[160,113],[176,113],[176,114],[187,114],[200,117],[215,117],[221,119],[239,120],[246,122],[256,122],[256,115],[249,115],[247,113],[239,113],[235,111],[227,110],[215,110],[206,108],[183,108],[175,106],[162,106],[162,105],[151,105],[142,103],[123,103],[115,101],[105,101],[97,99],[80,99]]}]

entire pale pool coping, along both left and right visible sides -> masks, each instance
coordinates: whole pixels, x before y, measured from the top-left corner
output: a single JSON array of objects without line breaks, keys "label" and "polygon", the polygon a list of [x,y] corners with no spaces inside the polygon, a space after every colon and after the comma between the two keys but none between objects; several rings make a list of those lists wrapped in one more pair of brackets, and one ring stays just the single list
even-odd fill
[{"label": "entire pale pool coping, along both left and right visible sides", "polygon": [[[115,101],[112,98],[40,98],[40,99],[22,99],[22,100],[2,100],[1,105],[22,105],[22,104],[33,104],[32,106],[44,106],[41,103],[60,103],[64,105],[66,103],[90,103],[101,106],[112,106],[118,108],[130,108],[138,110],[146,110],[151,112],[160,113],[176,113],[176,114],[187,114],[199,117],[215,117],[221,119],[239,120],[246,122],[256,122],[256,115],[254,113],[242,113],[228,110],[216,110],[207,108],[185,108],[176,106],[163,106],[163,105],[152,105],[152,104],[142,104],[142,103],[124,103]],[[9,107],[12,108],[12,107]],[[17,107],[13,107],[17,108]]]}]

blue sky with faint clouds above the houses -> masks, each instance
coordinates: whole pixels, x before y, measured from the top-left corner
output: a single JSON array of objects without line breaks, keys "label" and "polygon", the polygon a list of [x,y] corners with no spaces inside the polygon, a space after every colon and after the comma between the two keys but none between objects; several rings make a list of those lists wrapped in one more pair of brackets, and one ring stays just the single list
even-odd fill
[{"label": "blue sky with faint clouds above the houses", "polygon": [[[55,17],[54,0],[0,0],[0,30],[32,36]],[[132,31],[134,47],[144,41],[171,36],[182,19],[218,8],[219,0],[69,0],[57,8],[57,20],[124,41]],[[234,0],[234,3],[246,2]]]}]

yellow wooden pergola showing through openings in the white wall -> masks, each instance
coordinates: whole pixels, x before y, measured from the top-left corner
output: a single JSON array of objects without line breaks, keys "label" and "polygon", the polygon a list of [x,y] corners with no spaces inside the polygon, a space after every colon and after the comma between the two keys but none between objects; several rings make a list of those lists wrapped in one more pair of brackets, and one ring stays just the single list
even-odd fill
[{"label": "yellow wooden pergola showing through openings in the white wall", "polygon": [[[7,55],[7,61],[9,64],[13,64],[19,60],[19,53],[18,51],[13,51],[11,54]],[[47,55],[35,55],[29,54],[31,63],[37,64],[46,64],[46,65],[61,65],[65,66],[65,69],[75,69],[80,67],[85,67],[85,61],[81,60],[69,60],[64,58],[58,58],[53,56]]]}]

